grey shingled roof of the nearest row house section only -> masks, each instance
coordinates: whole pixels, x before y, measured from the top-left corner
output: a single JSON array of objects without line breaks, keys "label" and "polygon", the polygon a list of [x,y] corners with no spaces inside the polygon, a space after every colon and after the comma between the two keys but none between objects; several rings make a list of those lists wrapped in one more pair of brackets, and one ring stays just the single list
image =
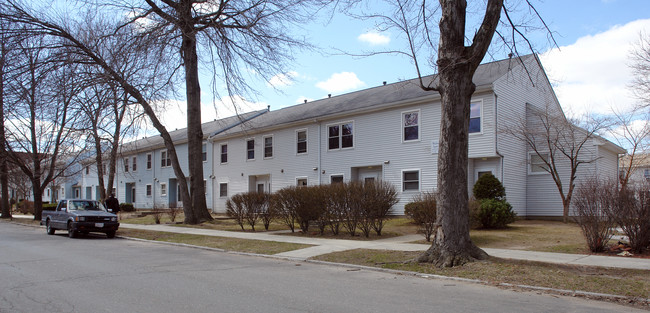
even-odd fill
[{"label": "grey shingled roof of the nearest row house section only", "polygon": [[[506,59],[480,65],[472,79],[476,91],[492,88],[497,79],[532,57],[533,55],[527,55],[521,59]],[[437,75],[423,77],[422,81],[425,84],[432,82],[431,85],[434,86],[438,84]],[[422,90],[418,79],[410,79],[271,111],[248,123],[238,125],[239,127],[224,131],[215,139],[322,118],[335,118],[359,111],[367,112],[400,104],[431,101],[439,97],[438,92]]]}]

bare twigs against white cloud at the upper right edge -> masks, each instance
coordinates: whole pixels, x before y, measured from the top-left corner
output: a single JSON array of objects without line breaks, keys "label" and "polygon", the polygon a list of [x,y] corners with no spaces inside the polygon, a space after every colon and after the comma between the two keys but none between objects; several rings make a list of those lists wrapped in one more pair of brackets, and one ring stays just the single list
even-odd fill
[{"label": "bare twigs against white cloud at the upper right edge", "polygon": [[644,105],[650,106],[650,34],[642,33],[631,54],[634,80],[630,88]]}]

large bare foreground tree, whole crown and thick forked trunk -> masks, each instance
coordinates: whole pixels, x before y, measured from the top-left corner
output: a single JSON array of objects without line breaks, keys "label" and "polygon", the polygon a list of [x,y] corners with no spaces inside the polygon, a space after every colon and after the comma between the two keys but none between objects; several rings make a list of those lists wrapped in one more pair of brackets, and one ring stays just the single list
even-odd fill
[{"label": "large bare foreground tree, whole crown and thick forked trunk", "polygon": [[[516,9],[505,7],[503,0],[474,2],[475,7],[469,10],[465,0],[438,2],[439,5],[425,0],[386,1],[394,8],[392,14],[363,13],[361,17],[378,20],[379,30],[396,30],[406,41],[404,50],[370,55],[407,56],[415,66],[420,87],[440,94],[437,223],[431,248],[417,261],[451,267],[487,257],[469,237],[468,194],[458,192],[467,190],[468,183],[470,98],[476,90],[472,78],[495,34],[503,42],[502,47],[511,55],[519,56],[518,43],[532,50],[522,29],[545,29],[545,25],[529,1],[514,3],[524,3],[522,11],[527,14],[523,15],[538,20],[539,27],[530,24],[532,21],[515,21],[511,9]],[[468,29],[468,12],[479,18],[480,23],[474,29]],[[429,71],[437,75],[426,76]]]}]

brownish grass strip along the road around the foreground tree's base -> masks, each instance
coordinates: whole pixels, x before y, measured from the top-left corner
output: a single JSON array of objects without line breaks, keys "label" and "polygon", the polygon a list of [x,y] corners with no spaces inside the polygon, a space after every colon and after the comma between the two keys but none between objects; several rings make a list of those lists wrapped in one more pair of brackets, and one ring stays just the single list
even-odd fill
[{"label": "brownish grass strip along the road around the foreground tree's base", "polygon": [[604,269],[498,258],[442,269],[431,264],[404,263],[418,254],[419,252],[358,249],[330,253],[314,259],[478,279],[494,284],[510,283],[650,298],[650,271],[647,270]]}]

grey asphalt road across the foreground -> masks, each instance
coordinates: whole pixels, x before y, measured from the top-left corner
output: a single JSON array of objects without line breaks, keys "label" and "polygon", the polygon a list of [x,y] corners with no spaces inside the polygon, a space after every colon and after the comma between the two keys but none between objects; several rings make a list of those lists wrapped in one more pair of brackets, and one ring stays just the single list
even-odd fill
[{"label": "grey asphalt road across the foreground", "polygon": [[[0,312],[620,312],[478,284],[0,222]],[[639,311],[640,312],[640,311]]]}]

